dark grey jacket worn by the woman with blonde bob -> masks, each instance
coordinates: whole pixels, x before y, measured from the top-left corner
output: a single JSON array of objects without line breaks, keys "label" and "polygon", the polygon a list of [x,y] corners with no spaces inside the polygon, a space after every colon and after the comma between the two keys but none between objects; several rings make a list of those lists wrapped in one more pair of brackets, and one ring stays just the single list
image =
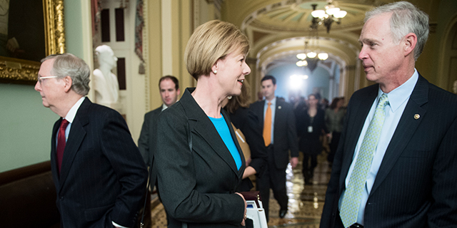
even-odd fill
[{"label": "dark grey jacket worn by the woman with blonde bob", "polygon": [[[231,136],[241,155],[241,168],[213,123],[187,88],[182,98],[159,115],[154,166],[169,227],[241,227],[244,202],[234,194],[245,160],[233,128]],[[231,126],[224,110],[226,123]],[[190,134],[190,135],[189,135]],[[192,151],[189,149],[191,138]]]}]

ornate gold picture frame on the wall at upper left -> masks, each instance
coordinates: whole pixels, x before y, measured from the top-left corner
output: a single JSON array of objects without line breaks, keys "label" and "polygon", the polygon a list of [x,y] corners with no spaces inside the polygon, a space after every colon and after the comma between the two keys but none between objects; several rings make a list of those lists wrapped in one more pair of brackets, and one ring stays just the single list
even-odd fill
[{"label": "ornate gold picture frame on the wall at upper left", "polygon": [[[64,53],[64,0],[43,0],[43,14],[46,56]],[[39,61],[0,56],[0,83],[34,85],[40,64]]]}]

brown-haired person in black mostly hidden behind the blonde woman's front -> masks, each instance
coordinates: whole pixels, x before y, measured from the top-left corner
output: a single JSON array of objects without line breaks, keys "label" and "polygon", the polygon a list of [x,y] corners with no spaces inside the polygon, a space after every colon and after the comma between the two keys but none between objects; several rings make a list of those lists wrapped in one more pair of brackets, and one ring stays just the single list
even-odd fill
[{"label": "brown-haired person in black mostly hidden behind the blonde woman's front", "polygon": [[244,81],[241,94],[233,96],[231,99],[227,98],[226,105],[224,105],[224,109],[229,113],[231,123],[235,128],[241,130],[246,143],[249,145],[249,150],[251,150],[251,157],[246,160],[246,170],[244,170],[243,181],[238,187],[238,192],[250,191],[253,188],[248,177],[261,175],[268,157],[257,115],[248,109],[249,100],[249,85],[247,81]]}]

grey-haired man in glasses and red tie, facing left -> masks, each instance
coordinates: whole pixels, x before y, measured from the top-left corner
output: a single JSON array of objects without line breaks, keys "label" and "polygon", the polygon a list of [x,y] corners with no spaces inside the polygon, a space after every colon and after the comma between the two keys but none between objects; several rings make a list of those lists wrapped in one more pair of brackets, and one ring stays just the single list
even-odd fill
[{"label": "grey-haired man in glasses and red tie, facing left", "polygon": [[91,103],[89,66],[64,53],[41,61],[43,105],[61,116],[51,140],[51,171],[61,227],[133,227],[147,171],[126,122]]}]

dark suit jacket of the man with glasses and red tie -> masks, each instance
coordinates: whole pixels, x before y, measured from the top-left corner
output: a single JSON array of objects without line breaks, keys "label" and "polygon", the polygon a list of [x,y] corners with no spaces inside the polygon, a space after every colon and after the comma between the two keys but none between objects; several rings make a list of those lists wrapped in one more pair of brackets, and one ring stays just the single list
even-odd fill
[{"label": "dark suit jacket of the man with glasses and red tie", "polygon": [[61,174],[54,124],[51,170],[61,227],[132,227],[142,206],[147,171],[122,116],[85,98],[66,141]]}]

